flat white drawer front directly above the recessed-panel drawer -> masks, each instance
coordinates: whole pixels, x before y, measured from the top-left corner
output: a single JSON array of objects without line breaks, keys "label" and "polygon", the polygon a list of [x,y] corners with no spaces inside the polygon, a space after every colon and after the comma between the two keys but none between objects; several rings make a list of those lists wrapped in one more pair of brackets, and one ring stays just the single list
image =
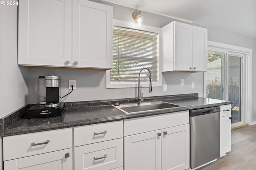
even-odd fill
[{"label": "flat white drawer front directly above the recessed-panel drawer", "polygon": [[74,146],[123,137],[123,121],[74,127]]}]

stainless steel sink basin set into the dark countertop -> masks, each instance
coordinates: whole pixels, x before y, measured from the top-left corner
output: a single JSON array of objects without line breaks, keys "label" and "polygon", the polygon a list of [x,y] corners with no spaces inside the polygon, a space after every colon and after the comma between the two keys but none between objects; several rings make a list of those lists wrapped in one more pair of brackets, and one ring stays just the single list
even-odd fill
[{"label": "stainless steel sink basin set into the dark countertop", "polygon": [[[114,106],[114,105],[112,105],[112,106]],[[129,114],[129,113],[140,113],[140,112],[145,112],[145,111],[168,109],[168,108],[181,107],[181,106],[160,101],[160,102],[147,102],[147,103],[142,103],[140,105],[138,105],[138,104],[123,104],[123,105],[114,106],[114,107],[118,108],[119,110],[123,111],[126,114]]]}]

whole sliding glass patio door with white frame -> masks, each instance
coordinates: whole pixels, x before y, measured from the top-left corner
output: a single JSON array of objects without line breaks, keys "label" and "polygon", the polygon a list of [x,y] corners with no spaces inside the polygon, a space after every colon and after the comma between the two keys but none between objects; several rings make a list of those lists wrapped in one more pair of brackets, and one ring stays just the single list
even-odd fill
[{"label": "whole sliding glass patio door with white frame", "polygon": [[230,51],[208,51],[208,71],[206,73],[206,97],[230,100],[232,123],[242,118],[242,78],[243,58],[240,53]]}]

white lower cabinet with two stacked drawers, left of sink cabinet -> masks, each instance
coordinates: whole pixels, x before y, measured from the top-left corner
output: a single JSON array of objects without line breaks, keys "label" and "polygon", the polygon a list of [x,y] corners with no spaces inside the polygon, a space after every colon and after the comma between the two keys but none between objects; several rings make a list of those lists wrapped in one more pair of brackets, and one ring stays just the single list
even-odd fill
[{"label": "white lower cabinet with two stacked drawers, left of sink cabinet", "polygon": [[74,127],[74,170],[122,170],[123,121]]}]

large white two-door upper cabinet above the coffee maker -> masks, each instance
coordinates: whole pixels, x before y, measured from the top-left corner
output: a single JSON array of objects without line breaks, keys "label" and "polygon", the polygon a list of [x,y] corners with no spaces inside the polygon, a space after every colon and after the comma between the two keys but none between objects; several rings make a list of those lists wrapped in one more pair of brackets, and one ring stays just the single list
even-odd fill
[{"label": "large white two-door upper cabinet above the coffee maker", "polygon": [[22,0],[18,64],[112,68],[112,19],[112,6],[88,0]]}]

